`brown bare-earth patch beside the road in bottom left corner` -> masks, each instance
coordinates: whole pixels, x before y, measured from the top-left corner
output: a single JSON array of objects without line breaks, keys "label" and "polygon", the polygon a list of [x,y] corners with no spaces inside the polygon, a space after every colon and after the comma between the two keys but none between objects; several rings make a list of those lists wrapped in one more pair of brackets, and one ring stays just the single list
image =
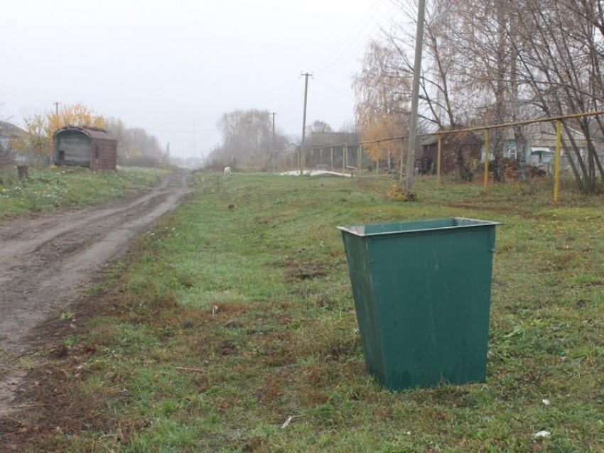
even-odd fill
[{"label": "brown bare-earth patch beside the road in bottom left corner", "polygon": [[97,346],[65,344],[71,335],[88,332],[87,320],[114,308],[101,301],[99,296],[82,299],[69,308],[74,314],[70,319],[52,317],[36,328],[30,341],[40,348],[38,357],[18,386],[13,402],[16,411],[0,418],[0,444],[6,445],[6,451],[38,448],[36,451],[62,452],[58,444],[55,447],[55,440],[61,437],[85,430],[134,429],[118,427],[109,416],[102,395],[82,392],[80,388],[93,371],[82,364],[90,362]]}]

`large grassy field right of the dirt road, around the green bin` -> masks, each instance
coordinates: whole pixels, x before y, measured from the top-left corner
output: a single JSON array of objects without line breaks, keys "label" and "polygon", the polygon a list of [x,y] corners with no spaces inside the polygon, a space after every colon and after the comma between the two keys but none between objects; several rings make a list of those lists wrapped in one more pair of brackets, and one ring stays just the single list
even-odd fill
[{"label": "large grassy field right of the dirt road, around the green bin", "polygon": [[[194,182],[97,288],[102,313],[67,340],[69,357],[51,360],[60,372],[41,385],[63,399],[22,422],[31,432],[55,414],[35,442],[61,452],[603,451],[602,197],[564,192],[553,207],[545,184],[483,196],[420,179],[419,201],[401,203],[370,179]],[[487,382],[385,391],[365,373],[335,226],[445,216],[503,222]],[[540,430],[551,435],[535,439]]]}]

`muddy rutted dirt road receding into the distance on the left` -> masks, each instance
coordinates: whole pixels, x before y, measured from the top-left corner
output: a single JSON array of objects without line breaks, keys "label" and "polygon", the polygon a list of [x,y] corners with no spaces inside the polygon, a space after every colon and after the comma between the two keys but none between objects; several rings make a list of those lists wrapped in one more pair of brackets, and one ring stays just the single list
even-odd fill
[{"label": "muddy rutted dirt road receding into the distance on the left", "polygon": [[36,324],[82,294],[104,264],[122,256],[188,193],[174,173],[136,197],[77,212],[0,223],[0,415],[24,371],[9,358],[27,351]]}]

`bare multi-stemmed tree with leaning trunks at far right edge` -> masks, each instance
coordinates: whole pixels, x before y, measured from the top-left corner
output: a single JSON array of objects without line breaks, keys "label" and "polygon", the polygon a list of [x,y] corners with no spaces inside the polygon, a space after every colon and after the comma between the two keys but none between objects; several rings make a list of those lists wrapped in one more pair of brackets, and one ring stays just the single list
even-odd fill
[{"label": "bare multi-stemmed tree with leaning trunks at far right edge", "polygon": [[[602,1],[531,2],[518,14],[518,23],[521,33],[515,38],[523,43],[519,62],[524,80],[532,89],[534,106],[548,116],[602,108]],[[520,48],[518,40],[514,45]],[[564,122],[568,163],[578,187],[586,192],[597,190],[596,172],[604,182],[590,124],[604,131],[600,119],[584,117]],[[586,159],[573,137],[572,126],[586,138]]]}]

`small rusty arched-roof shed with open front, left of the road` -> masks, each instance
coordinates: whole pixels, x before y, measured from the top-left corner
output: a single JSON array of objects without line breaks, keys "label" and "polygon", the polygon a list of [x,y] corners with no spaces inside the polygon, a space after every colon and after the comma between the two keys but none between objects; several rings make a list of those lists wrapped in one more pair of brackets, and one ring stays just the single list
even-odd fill
[{"label": "small rusty arched-roof shed with open front, left of the road", "polygon": [[55,165],[115,170],[117,140],[96,127],[65,126],[54,134]]}]

